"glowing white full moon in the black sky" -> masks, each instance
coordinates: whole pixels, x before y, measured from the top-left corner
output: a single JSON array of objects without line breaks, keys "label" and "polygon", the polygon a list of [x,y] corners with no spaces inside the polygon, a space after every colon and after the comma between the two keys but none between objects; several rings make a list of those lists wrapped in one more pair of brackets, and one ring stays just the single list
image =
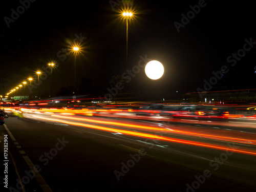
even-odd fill
[{"label": "glowing white full moon in the black sky", "polygon": [[161,62],[152,60],[147,63],[145,67],[146,76],[150,79],[156,80],[162,77],[164,68]]}]

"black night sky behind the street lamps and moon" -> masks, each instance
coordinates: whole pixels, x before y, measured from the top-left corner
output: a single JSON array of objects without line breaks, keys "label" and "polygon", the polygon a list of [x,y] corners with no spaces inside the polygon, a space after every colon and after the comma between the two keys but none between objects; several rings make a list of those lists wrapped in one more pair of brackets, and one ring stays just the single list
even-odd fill
[{"label": "black night sky behind the street lamps and moon", "polygon": [[[93,86],[102,86],[108,92],[111,77],[126,72],[126,24],[118,12],[122,4],[118,4],[117,0],[32,1],[8,27],[5,18],[11,19],[11,9],[17,10],[21,3],[2,3],[0,94],[54,60],[57,67],[52,74],[53,92],[58,96],[61,87],[74,84],[74,56],[62,50],[75,38],[82,41],[82,54],[76,57],[77,83],[82,77],[88,78]],[[177,91],[205,90],[204,80],[209,81],[212,72],[220,72],[223,66],[227,67],[225,72],[222,70],[222,78],[206,91],[256,88],[252,41],[256,39],[255,11],[250,1],[130,1],[130,5],[135,14],[129,23],[128,69],[132,70],[146,55],[162,62],[165,73],[153,81],[141,68],[133,84],[123,84],[122,92],[129,88],[126,91],[171,98]],[[202,6],[200,11],[198,5]],[[191,6],[198,13],[193,15]],[[187,13],[190,19],[185,24],[181,14]],[[180,32],[175,22],[182,26]],[[250,39],[251,46],[244,47]],[[232,53],[245,54],[234,61]],[[40,85],[42,97],[49,95],[49,87],[48,75]]]}]

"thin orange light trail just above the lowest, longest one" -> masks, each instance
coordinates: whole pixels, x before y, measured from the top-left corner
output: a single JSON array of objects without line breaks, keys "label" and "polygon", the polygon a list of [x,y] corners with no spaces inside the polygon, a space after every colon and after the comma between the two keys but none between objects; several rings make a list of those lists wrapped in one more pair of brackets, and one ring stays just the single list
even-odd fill
[{"label": "thin orange light trail just above the lowest, longest one", "polygon": [[133,128],[138,128],[138,129],[146,129],[146,130],[154,130],[154,131],[165,131],[165,132],[176,132],[176,133],[189,134],[189,135],[214,137],[214,138],[219,138],[219,139],[237,140],[238,142],[242,142],[242,141],[244,142],[246,140],[246,141],[256,143],[256,140],[250,140],[250,139],[244,139],[244,138],[240,139],[240,138],[234,138],[234,137],[224,137],[224,136],[216,136],[216,135],[208,135],[208,134],[200,134],[200,133],[196,133],[196,132],[187,132],[187,131],[178,131],[178,130],[167,130],[167,129],[163,130],[162,128],[155,127],[155,126],[118,123],[118,122],[113,122],[113,121],[101,121],[101,120],[93,120],[93,119],[87,119],[87,118],[69,117],[69,116],[61,116],[61,115],[51,115],[51,116],[58,117],[58,118],[63,118],[63,119],[70,119],[70,120],[78,120],[78,121],[87,121],[87,122],[100,123],[100,124],[111,124],[111,125],[117,125],[117,126],[133,127]]}]

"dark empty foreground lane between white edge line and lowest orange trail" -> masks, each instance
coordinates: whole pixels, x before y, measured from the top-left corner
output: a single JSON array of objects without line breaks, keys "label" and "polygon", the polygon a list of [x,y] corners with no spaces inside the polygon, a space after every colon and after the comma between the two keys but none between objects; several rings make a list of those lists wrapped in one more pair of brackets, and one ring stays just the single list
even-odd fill
[{"label": "dark empty foreground lane between white edge line and lowest orange trail", "polygon": [[[253,176],[256,167],[255,156],[252,155],[227,155],[225,151],[211,148],[38,119],[10,117],[6,119],[6,125],[22,151],[34,165],[39,165],[40,174],[52,191],[85,191],[92,187],[110,191],[192,191],[192,186],[198,187],[197,191],[255,189]],[[64,142],[63,148],[57,145],[61,150],[56,155],[52,154],[55,155],[53,158],[46,157],[45,153],[56,151],[53,149],[60,142],[58,139],[67,143]],[[225,145],[237,146],[232,142]],[[139,151],[140,148],[143,150]],[[132,157],[137,157],[135,165]],[[225,161],[217,163],[215,158]],[[123,166],[127,162],[131,167],[125,170]],[[200,176],[204,172],[211,176],[202,182],[203,177]],[[199,186],[196,176],[202,179]]]}]

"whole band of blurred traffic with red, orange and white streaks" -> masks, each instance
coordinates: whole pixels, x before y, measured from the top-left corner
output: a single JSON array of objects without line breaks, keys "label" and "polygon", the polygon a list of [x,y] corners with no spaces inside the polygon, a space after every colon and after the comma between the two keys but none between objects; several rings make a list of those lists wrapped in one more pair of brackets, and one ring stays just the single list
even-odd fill
[{"label": "whole band of blurred traffic with red, orange and white streaks", "polygon": [[[252,105],[77,100],[5,104],[3,111],[22,118],[256,155]],[[238,147],[230,149],[223,141]]]}]

